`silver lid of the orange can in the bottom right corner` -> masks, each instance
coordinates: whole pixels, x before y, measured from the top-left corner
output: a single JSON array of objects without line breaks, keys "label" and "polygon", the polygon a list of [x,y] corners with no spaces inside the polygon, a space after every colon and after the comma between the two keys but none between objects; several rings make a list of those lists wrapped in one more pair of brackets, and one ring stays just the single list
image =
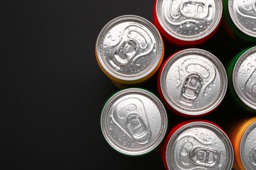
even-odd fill
[{"label": "silver lid of the orange can in the bottom right corner", "polygon": [[242,137],[240,157],[245,169],[256,169],[256,122],[246,129]]}]

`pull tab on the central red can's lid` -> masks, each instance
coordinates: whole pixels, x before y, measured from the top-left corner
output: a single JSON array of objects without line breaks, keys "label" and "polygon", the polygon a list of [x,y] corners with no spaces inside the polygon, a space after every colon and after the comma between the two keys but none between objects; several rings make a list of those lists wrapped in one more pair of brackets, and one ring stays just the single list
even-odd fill
[{"label": "pull tab on the central red can's lid", "polygon": [[181,89],[181,96],[188,100],[198,97],[203,86],[203,78],[197,73],[192,73],[186,77]]}]

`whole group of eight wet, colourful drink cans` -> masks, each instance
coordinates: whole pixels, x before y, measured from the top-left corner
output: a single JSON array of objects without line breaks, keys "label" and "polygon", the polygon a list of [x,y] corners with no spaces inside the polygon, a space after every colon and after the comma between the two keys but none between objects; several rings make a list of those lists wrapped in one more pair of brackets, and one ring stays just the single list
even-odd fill
[{"label": "whole group of eight wet, colourful drink cans", "polygon": [[[221,104],[227,89],[245,110],[256,112],[256,1],[156,0],[153,14],[152,22],[114,18],[96,39],[96,61],[120,89],[101,112],[104,138],[129,156],[148,154],[163,142],[166,169],[256,169],[256,116],[241,118],[232,131],[199,118]],[[234,41],[249,46],[230,56],[226,68],[197,47],[221,24]],[[166,44],[179,50],[165,59]],[[156,73],[160,97],[135,88]],[[196,119],[168,133],[165,107]]]}]

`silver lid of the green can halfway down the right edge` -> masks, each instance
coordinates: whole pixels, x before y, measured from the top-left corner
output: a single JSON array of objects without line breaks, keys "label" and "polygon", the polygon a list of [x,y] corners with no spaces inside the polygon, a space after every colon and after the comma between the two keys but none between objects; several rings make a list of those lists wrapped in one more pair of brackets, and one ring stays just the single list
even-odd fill
[{"label": "silver lid of the green can halfway down the right edge", "polygon": [[234,66],[232,79],[238,97],[251,109],[256,109],[256,46],[246,50]]}]

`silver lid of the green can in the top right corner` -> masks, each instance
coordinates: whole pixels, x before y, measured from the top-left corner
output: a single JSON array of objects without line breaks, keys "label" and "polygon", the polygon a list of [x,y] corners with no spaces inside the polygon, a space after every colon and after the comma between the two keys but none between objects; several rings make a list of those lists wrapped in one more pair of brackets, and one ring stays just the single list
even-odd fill
[{"label": "silver lid of the green can in the top right corner", "polygon": [[255,0],[229,0],[228,11],[236,27],[246,35],[256,37]]}]

